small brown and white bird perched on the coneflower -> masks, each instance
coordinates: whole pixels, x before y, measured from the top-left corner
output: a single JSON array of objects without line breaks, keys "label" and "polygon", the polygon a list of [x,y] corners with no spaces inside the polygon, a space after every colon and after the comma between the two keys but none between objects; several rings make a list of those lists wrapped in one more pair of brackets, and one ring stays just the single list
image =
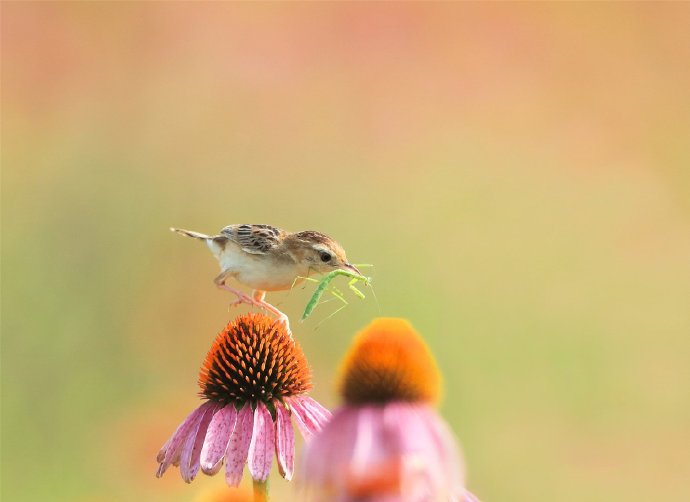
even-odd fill
[{"label": "small brown and white bird perched on the coneflower", "polygon": [[[264,224],[228,225],[218,235],[171,227],[172,232],[206,242],[220,264],[213,282],[237,296],[231,306],[253,305],[277,316],[289,332],[288,316],[268,303],[267,291],[291,289],[312,273],[334,270],[361,272],[347,260],[345,250],[331,237],[314,230],[289,232]],[[249,296],[227,284],[235,279],[253,289]]]}]

